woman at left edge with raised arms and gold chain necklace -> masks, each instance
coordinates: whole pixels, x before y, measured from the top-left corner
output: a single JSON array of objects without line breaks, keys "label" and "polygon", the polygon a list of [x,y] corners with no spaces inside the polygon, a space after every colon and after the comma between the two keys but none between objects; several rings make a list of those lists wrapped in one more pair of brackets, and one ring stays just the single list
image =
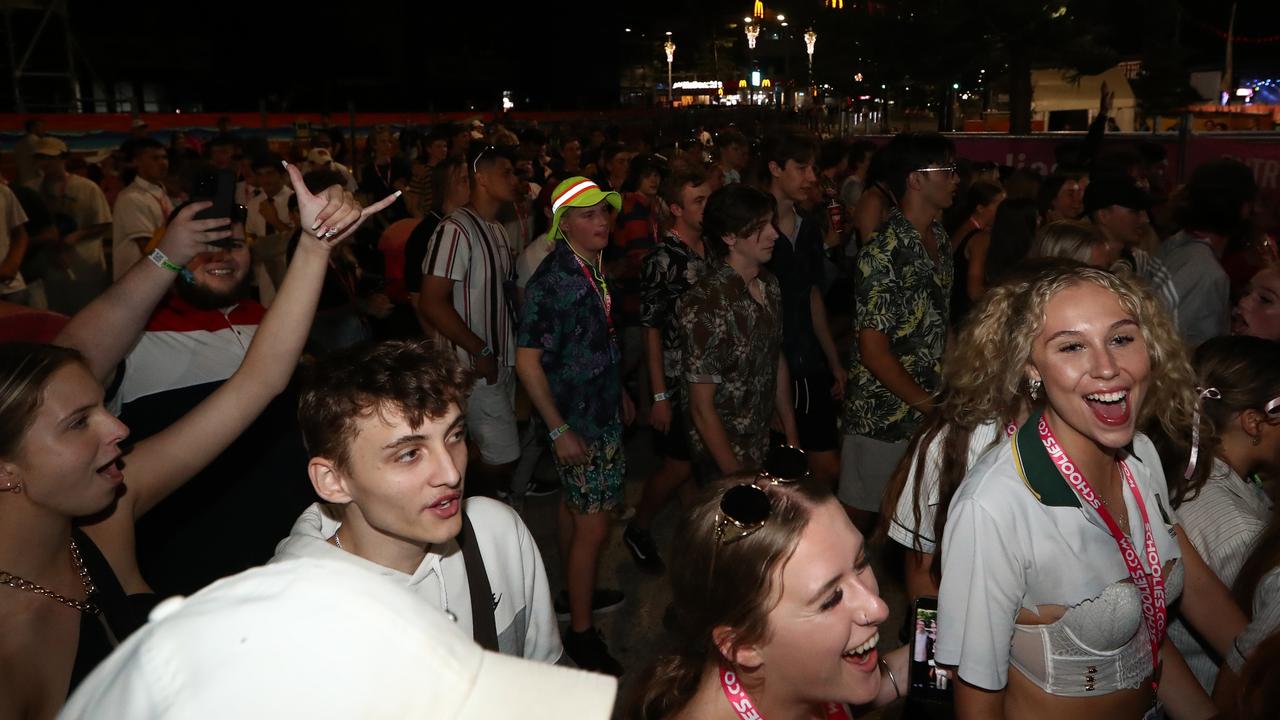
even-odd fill
[{"label": "woman at left edge with raised arms and gold chain necklace", "polygon": [[[128,351],[183,265],[200,272],[243,242],[228,220],[178,214],[160,255],[72,319],[69,347],[0,345],[0,716],[51,717],[68,692],[146,620],[134,524],[212,460],[293,374],[329,251],[371,213],[342,188],[316,196],[289,168],[312,228],[241,369],[178,423],[122,452],[125,428],[95,379]],[[389,199],[393,200],[394,197]],[[239,225],[238,233],[243,232]],[[234,530],[232,530],[234,532]]]}]

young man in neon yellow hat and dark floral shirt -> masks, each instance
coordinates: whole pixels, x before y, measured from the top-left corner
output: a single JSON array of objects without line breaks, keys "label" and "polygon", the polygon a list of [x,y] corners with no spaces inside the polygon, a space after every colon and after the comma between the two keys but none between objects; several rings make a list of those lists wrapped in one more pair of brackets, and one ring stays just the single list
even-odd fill
[{"label": "young man in neon yellow hat and dark floral shirt", "polygon": [[609,210],[617,192],[576,176],[552,192],[550,255],[525,288],[516,370],[541,415],[563,486],[561,560],[568,594],[564,651],[579,667],[621,675],[593,610],[622,603],[622,593],[595,588],[611,511],[622,503],[626,457],[622,427],[635,409],[622,392],[617,332],[600,252],[609,243]]}]

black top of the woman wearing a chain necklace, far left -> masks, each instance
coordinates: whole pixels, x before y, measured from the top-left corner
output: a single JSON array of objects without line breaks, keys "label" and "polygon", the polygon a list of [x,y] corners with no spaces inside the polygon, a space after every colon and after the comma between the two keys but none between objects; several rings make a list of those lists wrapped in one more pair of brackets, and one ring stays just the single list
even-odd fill
[{"label": "black top of the woman wearing a chain necklace, far left", "polygon": [[155,593],[125,594],[115,571],[79,528],[72,529],[72,537],[79,548],[81,560],[93,580],[93,594],[90,601],[101,611],[99,615],[81,614],[79,646],[76,648],[76,664],[72,666],[72,683],[68,694],[76,692],[81,682],[124,642],[127,637],[147,621],[147,615],[156,606]]}]

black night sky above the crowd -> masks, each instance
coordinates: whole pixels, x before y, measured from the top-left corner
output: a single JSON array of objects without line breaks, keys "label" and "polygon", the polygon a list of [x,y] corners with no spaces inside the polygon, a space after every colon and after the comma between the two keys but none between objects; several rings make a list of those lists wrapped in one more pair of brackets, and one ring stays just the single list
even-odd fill
[{"label": "black night sky above the crowd", "polygon": [[[1162,1],[1103,3],[1115,27],[1111,44],[1137,53],[1144,8]],[[844,12],[860,12],[856,5],[846,0]],[[1220,63],[1222,42],[1203,23],[1225,27],[1226,5],[1181,1],[1193,63]],[[503,90],[515,91],[521,108],[571,109],[614,104],[620,69],[646,60],[660,65],[668,29],[678,46],[677,72],[698,60],[709,65],[713,28],[736,36],[741,31],[727,26],[750,6],[749,0],[72,0],[70,18],[84,79],[154,82],[169,101],[202,102],[207,111],[253,110],[260,100],[271,110],[342,111],[348,100],[361,110],[492,109]],[[823,12],[820,0],[767,6],[799,23]],[[1275,0],[1242,1],[1238,32],[1280,35],[1277,8]],[[838,41],[827,33],[819,46]],[[1280,70],[1280,44],[1244,45],[1236,56],[1242,65]]]}]

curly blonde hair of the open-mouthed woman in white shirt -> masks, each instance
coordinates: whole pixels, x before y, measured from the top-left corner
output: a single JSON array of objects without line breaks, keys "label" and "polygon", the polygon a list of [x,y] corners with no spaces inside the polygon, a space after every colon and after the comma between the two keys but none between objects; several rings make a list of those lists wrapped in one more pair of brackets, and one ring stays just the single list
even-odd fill
[{"label": "curly blonde hair of the open-mouthed woman in white shirt", "polygon": [[1138,323],[1151,360],[1147,397],[1138,427],[1157,421],[1178,433],[1192,421],[1196,380],[1174,320],[1142,281],[1080,265],[1053,265],[992,288],[974,309],[943,368],[947,414],[964,425],[1009,418],[1027,392],[1027,363],[1044,324],[1044,307],[1057,293],[1080,283],[1110,291]]}]

